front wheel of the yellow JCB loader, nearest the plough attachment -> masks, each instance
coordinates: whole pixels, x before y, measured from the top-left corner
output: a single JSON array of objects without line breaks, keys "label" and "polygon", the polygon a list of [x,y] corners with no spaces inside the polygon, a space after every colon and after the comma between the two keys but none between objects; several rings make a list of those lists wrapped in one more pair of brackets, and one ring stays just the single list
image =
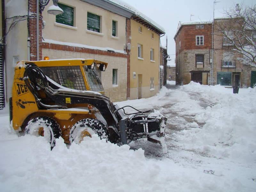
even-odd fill
[{"label": "front wheel of the yellow JCB loader, nearest the plough attachment", "polygon": [[70,144],[74,141],[76,144],[81,143],[84,140],[84,137],[92,137],[92,135],[97,134],[100,139],[108,141],[108,131],[105,124],[101,123],[97,119],[82,119],[70,130],[69,141]]}]

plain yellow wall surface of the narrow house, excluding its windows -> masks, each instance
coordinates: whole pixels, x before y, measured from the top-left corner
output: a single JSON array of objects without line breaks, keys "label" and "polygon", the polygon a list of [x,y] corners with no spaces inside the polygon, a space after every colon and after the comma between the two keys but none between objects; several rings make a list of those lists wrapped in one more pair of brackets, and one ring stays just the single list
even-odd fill
[{"label": "plain yellow wall surface of the narrow house, excluding its windows", "polygon": [[[139,27],[142,27],[142,33],[139,32]],[[154,39],[152,39],[152,33]],[[138,44],[143,45],[142,57],[138,59]],[[150,61],[150,49],[154,49],[154,61]],[[136,73],[136,78],[133,78],[133,72]],[[138,74],[142,74],[142,87],[144,93],[142,97],[147,98],[155,95],[158,92],[159,81],[159,35],[154,31],[149,30],[135,20],[131,20],[131,90],[138,86]],[[155,90],[150,91],[150,77],[154,77]],[[146,91],[145,91],[146,90]],[[148,90],[148,91],[147,91]],[[131,91],[131,99],[137,98],[136,89]]]}]

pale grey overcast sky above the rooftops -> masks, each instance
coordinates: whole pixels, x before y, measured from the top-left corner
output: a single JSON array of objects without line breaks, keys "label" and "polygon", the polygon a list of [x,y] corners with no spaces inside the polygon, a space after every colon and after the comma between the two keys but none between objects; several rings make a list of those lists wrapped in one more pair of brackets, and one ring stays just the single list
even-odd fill
[{"label": "pale grey overcast sky above the rooftops", "polygon": [[[172,61],[175,58],[174,35],[176,34],[179,21],[212,20],[213,0],[122,0],[135,7],[140,12],[156,21],[165,29],[165,36],[161,38],[162,44],[166,44],[168,37],[168,54]],[[252,6],[255,0],[216,0],[214,18],[221,17],[224,10],[235,7],[237,3]]]}]

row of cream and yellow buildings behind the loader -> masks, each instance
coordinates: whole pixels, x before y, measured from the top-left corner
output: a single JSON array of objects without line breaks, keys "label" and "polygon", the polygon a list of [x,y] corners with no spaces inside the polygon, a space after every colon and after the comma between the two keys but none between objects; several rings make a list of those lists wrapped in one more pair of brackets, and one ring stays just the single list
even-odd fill
[{"label": "row of cream and yellow buildings behind the loader", "polygon": [[[55,16],[47,13],[52,0],[46,5],[39,4],[39,12],[36,8],[40,1],[37,0],[4,2],[4,26],[8,32],[5,49],[7,102],[11,97],[16,63],[42,60],[45,56],[107,62],[108,68],[101,72],[100,78],[105,95],[114,102],[137,99],[139,90],[140,97],[144,98],[158,92],[159,36],[164,34],[164,29],[159,29],[128,4],[111,0],[59,0],[58,6],[64,13]],[[140,59],[139,44],[143,47]]]}]

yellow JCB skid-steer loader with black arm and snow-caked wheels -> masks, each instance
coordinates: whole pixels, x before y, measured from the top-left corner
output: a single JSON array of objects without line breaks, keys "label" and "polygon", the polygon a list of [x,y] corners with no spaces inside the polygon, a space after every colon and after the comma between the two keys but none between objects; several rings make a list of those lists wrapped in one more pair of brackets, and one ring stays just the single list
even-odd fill
[{"label": "yellow JCB skid-steer loader with black arm and snow-caked wheels", "polygon": [[108,97],[99,78],[108,64],[93,59],[20,61],[15,67],[10,120],[17,132],[44,136],[51,149],[85,136],[118,144],[147,138],[164,147],[166,118],[154,110],[125,113]]}]

